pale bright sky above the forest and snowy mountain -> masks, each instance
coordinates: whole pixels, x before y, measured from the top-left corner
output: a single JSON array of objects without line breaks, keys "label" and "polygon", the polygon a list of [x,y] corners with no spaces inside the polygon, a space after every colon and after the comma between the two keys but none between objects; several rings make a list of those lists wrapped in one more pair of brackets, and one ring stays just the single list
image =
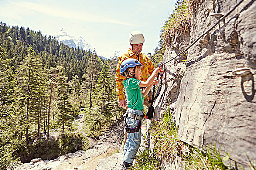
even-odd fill
[{"label": "pale bright sky above the forest and snowy mountain", "polygon": [[0,21],[54,36],[61,28],[83,37],[98,55],[125,53],[130,32],[145,37],[142,53],[158,46],[160,31],[175,0],[0,0]]}]

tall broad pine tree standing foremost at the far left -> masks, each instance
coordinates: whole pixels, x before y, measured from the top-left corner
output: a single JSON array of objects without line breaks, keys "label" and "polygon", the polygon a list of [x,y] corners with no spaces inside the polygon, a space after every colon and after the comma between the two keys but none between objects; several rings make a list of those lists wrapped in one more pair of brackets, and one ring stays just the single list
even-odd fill
[{"label": "tall broad pine tree standing foremost at the far left", "polygon": [[[35,52],[29,48],[28,55],[25,56],[23,63],[17,69],[15,88],[15,100],[17,114],[23,118],[20,126],[25,129],[26,145],[29,140],[29,128],[35,123],[36,113],[38,112],[37,102],[39,101],[39,58]],[[22,136],[21,131],[21,136]]]}]

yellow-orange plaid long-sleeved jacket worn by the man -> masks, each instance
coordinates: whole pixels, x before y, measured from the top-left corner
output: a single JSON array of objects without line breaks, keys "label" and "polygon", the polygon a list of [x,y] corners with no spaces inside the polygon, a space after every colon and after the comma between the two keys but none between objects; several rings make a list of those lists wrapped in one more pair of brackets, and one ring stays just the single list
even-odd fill
[{"label": "yellow-orange plaid long-sleeved jacket worn by the man", "polygon": [[[117,93],[118,93],[118,99],[119,101],[124,100],[123,95],[123,80],[125,79],[124,76],[120,74],[120,66],[122,62],[128,58],[134,58],[137,59],[137,56],[135,53],[133,53],[132,49],[129,49],[127,53],[123,54],[122,56],[118,57],[118,65],[116,69],[116,86],[117,86]],[[143,65],[142,67],[142,81],[146,81],[148,79],[148,74],[152,74],[154,71],[153,63],[150,61],[149,57],[146,54],[140,53],[139,54],[139,61]]]}]

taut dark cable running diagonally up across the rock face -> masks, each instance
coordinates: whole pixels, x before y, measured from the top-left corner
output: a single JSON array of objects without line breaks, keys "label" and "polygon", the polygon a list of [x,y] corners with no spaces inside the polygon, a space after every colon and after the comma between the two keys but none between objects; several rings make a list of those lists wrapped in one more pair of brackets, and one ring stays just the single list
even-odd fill
[{"label": "taut dark cable running diagonally up across the rock face", "polygon": [[199,39],[201,39],[205,34],[207,34],[209,31],[211,31],[220,21],[222,21],[225,17],[227,17],[228,15],[230,15],[230,13],[232,13],[237,6],[239,6],[244,0],[240,0],[231,10],[229,10],[229,12],[227,14],[225,14],[223,17],[221,17],[211,28],[209,28],[206,32],[204,32],[201,36],[199,36],[197,38],[196,41],[194,41],[192,44],[190,44],[185,50],[181,51],[179,54],[177,54],[174,58],[171,58],[170,60],[160,64],[160,66],[169,63],[170,61],[172,61],[173,59],[177,58],[180,54],[184,53],[185,51],[187,51],[191,46],[193,46]]}]

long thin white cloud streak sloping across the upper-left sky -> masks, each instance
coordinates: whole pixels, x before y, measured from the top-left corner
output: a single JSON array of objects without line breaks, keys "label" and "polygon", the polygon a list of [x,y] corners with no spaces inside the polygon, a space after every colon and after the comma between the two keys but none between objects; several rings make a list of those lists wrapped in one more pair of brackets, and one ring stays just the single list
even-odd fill
[{"label": "long thin white cloud streak sloping across the upper-left sky", "polygon": [[[52,4],[52,3],[51,3]],[[61,17],[64,19],[71,20],[73,22],[81,23],[81,22],[95,22],[95,23],[113,23],[125,26],[133,26],[130,23],[122,22],[119,20],[115,20],[113,18],[91,14],[89,12],[77,11],[74,9],[64,9],[61,6],[54,6],[51,4],[43,4],[43,3],[35,3],[35,2],[27,2],[27,1],[16,1],[9,2],[0,8],[0,16],[6,17],[8,19],[21,19],[22,15],[33,15],[33,14],[43,14],[51,17]]]}]

